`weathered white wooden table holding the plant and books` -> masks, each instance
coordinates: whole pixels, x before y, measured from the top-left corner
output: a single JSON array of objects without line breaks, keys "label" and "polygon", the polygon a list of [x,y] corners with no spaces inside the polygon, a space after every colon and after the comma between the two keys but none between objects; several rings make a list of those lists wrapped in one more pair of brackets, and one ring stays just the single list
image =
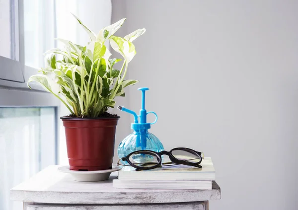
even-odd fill
[{"label": "weathered white wooden table holding the plant and books", "polygon": [[24,210],[208,210],[208,201],[221,198],[221,189],[157,190],[113,188],[113,172],[102,182],[77,182],[53,165],[10,190],[10,198]]}]

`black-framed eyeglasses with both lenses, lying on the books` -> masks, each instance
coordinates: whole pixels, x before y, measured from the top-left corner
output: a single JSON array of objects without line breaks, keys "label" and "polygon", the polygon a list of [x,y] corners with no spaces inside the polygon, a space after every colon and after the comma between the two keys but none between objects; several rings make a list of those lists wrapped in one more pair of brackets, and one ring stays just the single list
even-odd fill
[{"label": "black-framed eyeglasses with both lenses, lying on the books", "polygon": [[[163,162],[161,155],[168,155],[171,162]],[[151,150],[138,150],[131,152],[126,157],[122,157],[118,160],[127,161],[128,164],[138,170],[149,170],[164,165],[190,165],[198,168],[202,168],[200,163],[204,159],[204,154],[199,151],[195,151],[190,148],[177,147],[168,151],[155,152]]]}]

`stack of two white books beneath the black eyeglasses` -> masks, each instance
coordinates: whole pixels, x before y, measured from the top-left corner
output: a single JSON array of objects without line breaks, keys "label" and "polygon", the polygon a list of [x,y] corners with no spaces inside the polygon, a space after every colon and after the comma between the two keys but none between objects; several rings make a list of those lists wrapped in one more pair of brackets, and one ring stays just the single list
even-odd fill
[{"label": "stack of two white books beneath the black eyeglasses", "polygon": [[114,188],[135,189],[194,189],[211,190],[215,169],[210,157],[201,162],[202,168],[185,165],[162,166],[137,171],[124,166],[113,180]]}]

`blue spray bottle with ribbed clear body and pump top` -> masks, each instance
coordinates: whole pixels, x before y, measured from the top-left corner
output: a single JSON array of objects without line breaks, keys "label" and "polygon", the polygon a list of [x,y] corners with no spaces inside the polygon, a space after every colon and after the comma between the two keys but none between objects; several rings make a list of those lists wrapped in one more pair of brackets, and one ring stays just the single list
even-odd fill
[{"label": "blue spray bottle with ribbed clear body and pump top", "polygon": [[[145,91],[149,90],[147,87],[138,88],[142,91],[142,109],[140,110],[140,115],[138,116],[134,111],[124,108],[123,106],[118,106],[118,109],[125,111],[134,115],[135,122],[131,124],[131,129],[134,133],[128,135],[118,147],[119,158],[127,156],[129,153],[137,150],[152,150],[160,152],[163,150],[163,145],[160,140],[153,134],[148,132],[151,125],[155,124],[157,121],[157,115],[155,112],[147,112],[145,109]],[[152,113],[155,115],[155,121],[153,123],[147,123],[147,115]],[[140,123],[138,118],[140,117]]]}]

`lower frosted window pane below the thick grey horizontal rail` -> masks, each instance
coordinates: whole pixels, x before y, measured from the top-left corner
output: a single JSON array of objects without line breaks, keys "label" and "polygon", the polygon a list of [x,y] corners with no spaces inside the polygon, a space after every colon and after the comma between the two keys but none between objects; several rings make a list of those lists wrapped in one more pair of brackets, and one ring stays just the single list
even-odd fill
[{"label": "lower frosted window pane below the thick grey horizontal rail", "polygon": [[0,107],[1,210],[22,209],[10,188],[56,164],[56,122],[57,107]]}]

